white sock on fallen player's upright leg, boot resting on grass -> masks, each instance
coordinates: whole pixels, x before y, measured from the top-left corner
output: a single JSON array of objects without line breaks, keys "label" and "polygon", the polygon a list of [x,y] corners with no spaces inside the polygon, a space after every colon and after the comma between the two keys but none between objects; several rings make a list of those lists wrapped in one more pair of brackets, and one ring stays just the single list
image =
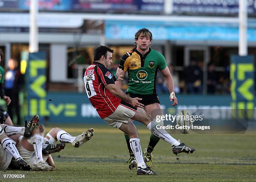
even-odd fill
[{"label": "white sock on fallen player's upright leg, boot resting on grass", "polygon": [[43,155],[42,155],[43,140],[44,140],[44,136],[41,136],[39,134],[35,134],[34,136],[31,137],[31,141],[33,142],[33,147],[36,154],[36,160],[34,162],[35,164],[43,160]]}]

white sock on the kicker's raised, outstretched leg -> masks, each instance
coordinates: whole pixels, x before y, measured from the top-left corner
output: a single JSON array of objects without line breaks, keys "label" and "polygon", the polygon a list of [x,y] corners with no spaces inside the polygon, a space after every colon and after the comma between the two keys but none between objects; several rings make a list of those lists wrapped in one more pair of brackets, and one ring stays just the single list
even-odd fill
[{"label": "white sock on the kicker's raised, outstretched leg", "polygon": [[180,142],[177,141],[177,139],[174,139],[165,129],[156,129],[156,126],[151,126],[151,124],[154,121],[151,121],[148,125],[147,128],[151,131],[152,134],[154,134],[156,137],[164,140],[165,142],[177,146],[180,144]]}]

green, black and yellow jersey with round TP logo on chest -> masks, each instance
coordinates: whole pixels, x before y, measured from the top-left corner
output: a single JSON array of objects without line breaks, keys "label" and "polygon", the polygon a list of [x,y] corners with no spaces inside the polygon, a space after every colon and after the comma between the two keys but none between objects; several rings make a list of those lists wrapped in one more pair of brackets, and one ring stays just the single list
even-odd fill
[{"label": "green, black and yellow jersey with round TP logo on chest", "polygon": [[144,56],[133,48],[122,56],[119,68],[128,72],[128,92],[149,95],[156,93],[157,70],[166,68],[166,61],[161,53],[151,48]]}]

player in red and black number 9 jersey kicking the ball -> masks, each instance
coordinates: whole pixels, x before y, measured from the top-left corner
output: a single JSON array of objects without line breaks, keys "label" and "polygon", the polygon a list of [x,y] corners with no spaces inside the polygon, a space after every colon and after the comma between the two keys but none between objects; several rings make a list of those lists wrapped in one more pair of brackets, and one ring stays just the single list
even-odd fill
[{"label": "player in red and black number 9 jersey kicking the ball", "polygon": [[[113,50],[106,46],[99,46],[94,50],[94,62],[88,66],[84,73],[84,84],[87,96],[95,107],[100,118],[111,126],[128,134],[130,146],[135,155],[138,168],[137,174],[157,174],[146,166],[141,152],[141,143],[136,126],[130,119],[139,121],[147,126],[154,136],[163,139],[172,146],[172,152],[193,153],[195,149],[178,142],[164,129],[157,129],[157,124],[146,114],[143,104],[138,97],[131,98],[115,86],[115,81],[120,79],[119,73],[113,76],[108,67],[112,64]],[[177,141],[174,144],[174,140]]]}]

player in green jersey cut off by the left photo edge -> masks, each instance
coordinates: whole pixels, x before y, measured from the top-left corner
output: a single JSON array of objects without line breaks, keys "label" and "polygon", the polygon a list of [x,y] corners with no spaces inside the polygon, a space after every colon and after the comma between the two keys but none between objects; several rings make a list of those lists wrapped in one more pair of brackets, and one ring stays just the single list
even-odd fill
[{"label": "player in green jersey cut off by the left photo edge", "polygon": [[[0,63],[2,62],[3,59],[3,51],[0,49]],[[0,97],[1,99],[4,99],[6,104],[9,105],[11,102],[10,97],[5,95],[5,90],[4,90],[4,75],[5,75],[5,70],[2,66],[0,66]],[[0,106],[0,111],[2,111],[5,114],[5,124],[12,125],[13,126],[13,121],[10,119],[10,116],[6,111],[4,111],[3,107]]]}]

